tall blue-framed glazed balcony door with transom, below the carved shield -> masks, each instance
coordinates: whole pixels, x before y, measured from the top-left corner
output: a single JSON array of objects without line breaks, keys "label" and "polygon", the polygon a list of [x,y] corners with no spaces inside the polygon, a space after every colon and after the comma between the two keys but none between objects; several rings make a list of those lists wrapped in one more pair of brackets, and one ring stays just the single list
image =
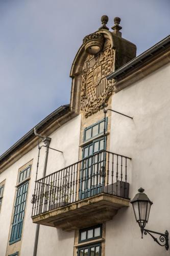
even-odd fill
[{"label": "tall blue-framed glazed balcony door with transom, below the carved shield", "polygon": [[107,119],[106,124],[105,120],[102,119],[84,130],[84,141],[90,141],[83,147],[82,159],[84,161],[81,172],[80,199],[101,193],[104,186],[104,178],[100,175],[100,171],[105,165],[105,153],[103,151],[106,149],[103,136],[104,125],[106,125],[107,130]]}]

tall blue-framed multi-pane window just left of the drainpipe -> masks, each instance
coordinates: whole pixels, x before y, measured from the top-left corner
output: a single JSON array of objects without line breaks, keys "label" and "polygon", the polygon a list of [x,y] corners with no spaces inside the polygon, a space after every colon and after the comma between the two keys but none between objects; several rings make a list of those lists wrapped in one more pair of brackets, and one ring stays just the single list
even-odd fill
[{"label": "tall blue-framed multi-pane window just left of the drainpipe", "polygon": [[31,169],[31,165],[29,165],[26,169],[23,169],[19,173],[19,178],[18,178],[19,184],[16,191],[10,244],[13,244],[21,239],[23,219],[24,219],[25,208],[26,208],[28,185],[29,185],[28,178],[30,177],[30,169]]}]

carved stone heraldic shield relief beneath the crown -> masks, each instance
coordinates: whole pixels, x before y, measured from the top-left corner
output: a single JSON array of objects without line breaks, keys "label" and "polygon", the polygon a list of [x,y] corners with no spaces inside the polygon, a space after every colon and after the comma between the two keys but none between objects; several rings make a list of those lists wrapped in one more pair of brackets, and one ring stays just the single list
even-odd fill
[{"label": "carved stone heraldic shield relief beneath the crown", "polygon": [[113,71],[114,50],[110,40],[106,39],[103,50],[96,54],[88,54],[82,71],[81,83],[81,110],[88,117],[107,104],[114,86],[108,81],[108,76]]}]

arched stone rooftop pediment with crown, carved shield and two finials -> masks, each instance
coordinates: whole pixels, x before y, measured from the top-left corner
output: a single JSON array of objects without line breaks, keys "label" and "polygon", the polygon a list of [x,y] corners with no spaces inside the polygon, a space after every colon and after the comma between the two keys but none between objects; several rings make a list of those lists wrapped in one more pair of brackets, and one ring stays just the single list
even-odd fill
[{"label": "arched stone rooftop pediment with crown, carved shield and two finials", "polygon": [[114,81],[106,77],[136,56],[136,46],[119,32],[120,18],[114,19],[113,32],[106,27],[108,17],[104,15],[101,20],[103,26],[83,39],[70,71],[70,108],[86,118],[107,105]]}]

